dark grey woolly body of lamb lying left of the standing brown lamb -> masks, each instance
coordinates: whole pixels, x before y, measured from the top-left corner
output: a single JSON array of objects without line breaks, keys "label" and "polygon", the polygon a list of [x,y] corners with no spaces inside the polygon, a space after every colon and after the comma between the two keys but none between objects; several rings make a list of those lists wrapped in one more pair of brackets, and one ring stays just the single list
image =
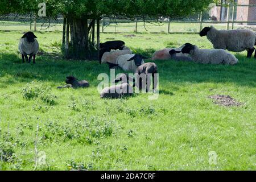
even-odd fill
[{"label": "dark grey woolly body of lamb lying left of the standing brown lamb", "polygon": [[101,98],[122,98],[131,96],[132,94],[133,88],[127,83],[122,83],[104,88],[100,95]]}]

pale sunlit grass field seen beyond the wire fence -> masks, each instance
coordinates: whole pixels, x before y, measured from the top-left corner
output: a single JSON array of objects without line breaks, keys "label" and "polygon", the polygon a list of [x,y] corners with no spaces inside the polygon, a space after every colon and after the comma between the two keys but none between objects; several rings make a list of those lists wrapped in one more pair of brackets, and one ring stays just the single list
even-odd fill
[{"label": "pale sunlit grass field seen beyond the wire fence", "polygon": [[[63,24],[55,24],[55,26],[50,26],[47,28],[48,24],[37,23],[37,30],[40,31],[62,31]],[[210,23],[203,23],[202,27],[210,26]],[[146,27],[146,29],[145,29]],[[150,33],[150,32],[159,32],[164,33],[168,32],[168,23],[163,22],[160,26],[156,26],[155,23],[146,23],[144,27],[143,22],[137,24],[137,31],[140,33]],[[214,27],[218,29],[226,29],[226,23],[214,24]],[[234,28],[243,27],[242,25],[234,24]],[[232,28],[232,23],[230,23],[229,28]],[[29,31],[30,23],[22,22],[8,22],[0,21],[0,31]],[[34,23],[32,23],[32,30],[34,30]],[[102,27],[100,28],[102,31]],[[170,32],[199,32],[200,23],[170,23]],[[104,32],[135,32],[135,22],[131,23],[110,23],[109,26],[104,27]]]}]

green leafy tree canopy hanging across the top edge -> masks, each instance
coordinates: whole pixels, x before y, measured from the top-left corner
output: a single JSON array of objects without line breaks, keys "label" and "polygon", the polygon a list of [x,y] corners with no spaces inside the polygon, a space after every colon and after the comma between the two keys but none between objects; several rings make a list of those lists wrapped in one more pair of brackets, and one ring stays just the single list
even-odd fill
[{"label": "green leafy tree canopy hanging across the top edge", "polygon": [[[3,13],[34,13],[39,10],[39,0],[2,0],[0,14]],[[187,15],[208,7],[212,0],[45,0],[47,16],[57,14],[73,18],[100,18],[101,16],[158,16]]]}]

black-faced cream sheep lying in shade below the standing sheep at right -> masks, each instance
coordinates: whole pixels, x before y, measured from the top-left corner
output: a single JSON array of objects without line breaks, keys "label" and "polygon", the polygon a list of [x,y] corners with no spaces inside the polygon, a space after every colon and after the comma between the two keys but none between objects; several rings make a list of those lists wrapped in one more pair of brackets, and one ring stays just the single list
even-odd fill
[{"label": "black-faced cream sheep lying in shade below the standing sheep at right", "polygon": [[238,59],[224,49],[199,49],[197,46],[188,43],[181,49],[181,52],[189,53],[196,63],[230,65],[238,63]]}]

